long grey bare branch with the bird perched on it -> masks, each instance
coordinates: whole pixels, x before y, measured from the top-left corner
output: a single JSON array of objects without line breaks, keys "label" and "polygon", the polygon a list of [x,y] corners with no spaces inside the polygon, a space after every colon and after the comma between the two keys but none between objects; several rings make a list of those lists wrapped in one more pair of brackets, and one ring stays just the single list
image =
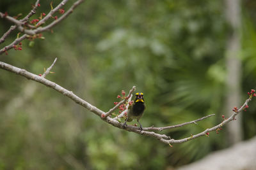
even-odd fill
[{"label": "long grey bare branch with the bird perched on it", "polygon": [[[52,65],[47,69],[48,71],[54,66],[55,62],[56,62],[56,59],[54,60]],[[15,74],[19,74],[20,76],[24,76],[24,77],[28,78],[29,80],[33,80],[33,81],[37,81],[38,83],[42,83],[45,86],[50,87],[50,88],[56,90],[57,92],[60,92],[64,96],[67,96],[68,98],[70,98],[74,102],[76,102],[77,104],[79,104],[79,105],[83,106],[84,108],[86,108],[87,110],[95,113],[95,115],[98,115],[99,117],[102,117],[102,115],[107,115],[107,113],[105,113],[104,111],[99,110],[99,108],[93,106],[92,104],[90,104],[90,103],[84,101],[83,99],[81,99],[80,97],[76,96],[76,94],[74,94],[72,91],[64,89],[60,85],[58,85],[58,84],[56,84],[52,81],[49,81],[49,80],[45,79],[42,76],[37,76],[36,74],[29,73],[25,69],[20,69],[18,67],[12,66],[10,64],[6,64],[4,62],[0,62],[0,68],[4,69],[6,71],[10,71],[10,72],[15,73]],[[45,71],[45,73],[46,73],[46,71]],[[132,92],[134,92],[135,88],[136,87],[132,87],[132,89],[129,92],[129,95],[125,98],[126,100],[131,99]],[[124,102],[125,102],[125,99],[123,100]],[[220,124],[218,124],[214,127],[211,127],[210,129],[205,129],[205,131],[203,131],[203,132],[200,132],[200,133],[195,134],[195,135],[191,135],[190,137],[184,138],[184,139],[172,139],[172,138],[170,138],[170,136],[166,136],[165,134],[158,134],[158,133],[152,132],[150,130],[161,131],[163,129],[171,129],[173,127],[182,127],[183,125],[195,124],[195,122],[198,122],[200,120],[204,120],[205,118],[208,118],[208,117],[212,117],[214,114],[208,115],[206,117],[198,118],[197,120],[193,120],[191,122],[185,122],[185,123],[179,124],[179,125],[172,125],[172,126],[167,126],[167,127],[146,127],[146,128],[143,128],[142,131],[139,130],[138,127],[131,126],[131,125],[127,125],[127,127],[124,128],[124,124],[118,122],[118,120],[117,120],[118,117],[111,118],[111,117],[106,116],[106,117],[102,117],[102,120],[104,120],[105,122],[108,122],[108,124],[111,124],[115,127],[120,128],[120,129],[125,129],[125,131],[135,132],[137,134],[141,134],[141,135],[144,135],[144,136],[150,136],[150,137],[153,137],[153,138],[157,138],[157,139],[159,139],[159,141],[161,141],[163,143],[166,143],[166,144],[184,143],[186,141],[190,141],[190,140],[198,138],[200,136],[205,136],[205,135],[207,135],[208,132],[216,131],[217,129],[220,129],[221,127],[223,127],[223,125],[227,124],[228,122],[230,122],[232,120],[235,120],[236,115],[239,114],[243,110],[243,108],[245,108],[248,105],[248,103],[251,100],[252,100],[252,95],[249,97],[249,99],[247,99],[245,101],[245,103],[243,104],[243,106],[241,106],[241,108],[239,108],[239,110],[234,111],[234,113],[232,114],[231,117],[229,117],[228,119],[223,120],[223,122],[221,122]],[[118,108],[116,106],[108,111],[108,115],[110,115],[111,111]]]}]

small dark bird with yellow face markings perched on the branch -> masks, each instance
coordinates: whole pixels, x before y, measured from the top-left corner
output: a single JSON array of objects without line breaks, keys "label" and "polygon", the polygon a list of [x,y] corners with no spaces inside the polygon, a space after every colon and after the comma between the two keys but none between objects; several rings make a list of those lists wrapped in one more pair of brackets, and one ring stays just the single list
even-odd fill
[{"label": "small dark bird with yellow face markings perched on the branch", "polygon": [[[124,127],[127,127],[126,122],[131,122],[133,119],[137,119],[137,122],[139,122],[140,118],[143,116],[145,108],[143,93],[136,93],[134,102],[128,107],[127,118],[125,119]],[[140,130],[142,131],[141,124]]]}]

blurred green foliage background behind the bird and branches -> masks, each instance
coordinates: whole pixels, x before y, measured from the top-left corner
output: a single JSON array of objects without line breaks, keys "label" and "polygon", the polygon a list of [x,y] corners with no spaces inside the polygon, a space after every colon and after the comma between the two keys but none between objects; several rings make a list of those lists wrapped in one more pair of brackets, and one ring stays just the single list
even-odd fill
[{"label": "blurred green foliage background behind the bird and branches", "polygon": [[[1,0],[0,11],[26,15],[35,1]],[[36,15],[51,10],[42,1]],[[60,1],[53,1],[56,6]],[[64,7],[68,10],[74,1]],[[226,17],[225,1],[86,0],[44,40],[22,41],[22,51],[10,50],[0,60],[35,74],[44,73],[55,57],[47,79],[108,111],[121,90],[136,85],[147,110],[144,127],[179,124],[215,113],[215,117],[166,131],[180,139],[204,131],[228,117],[247,92],[256,88],[256,3],[239,4],[238,27]],[[61,14],[58,13],[58,16]],[[234,16],[234,17],[237,17]],[[53,20],[53,19],[52,19]],[[1,36],[12,25],[0,19]],[[13,32],[1,44],[17,36]],[[230,36],[238,36],[241,67],[238,81],[228,81]],[[30,45],[29,45],[30,43]],[[232,67],[232,66],[231,66]],[[227,98],[237,94],[231,107]],[[229,112],[228,112],[229,111]],[[67,97],[39,83],[0,70],[0,169],[166,169],[189,164],[216,150],[256,134],[255,101],[231,124],[240,129],[234,139],[227,127],[169,145],[116,129]],[[134,124],[135,122],[133,122]]]}]

